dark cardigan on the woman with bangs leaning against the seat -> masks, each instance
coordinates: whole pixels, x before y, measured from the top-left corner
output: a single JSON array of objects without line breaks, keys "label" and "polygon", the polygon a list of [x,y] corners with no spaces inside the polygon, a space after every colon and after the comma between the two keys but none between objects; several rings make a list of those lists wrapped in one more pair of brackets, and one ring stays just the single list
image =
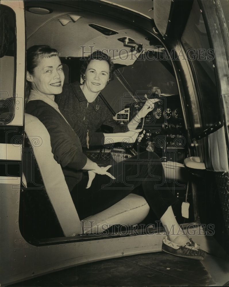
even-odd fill
[{"label": "dark cardigan on the woman with bangs leaning against the seat", "polygon": [[[90,133],[86,129],[74,126],[74,130],[69,125],[70,119],[65,119],[55,108],[42,100],[31,100],[27,103],[25,112],[37,117],[47,128],[52,153],[55,160],[61,164],[66,183],[70,191],[81,180],[82,169],[87,161],[85,154],[82,153],[82,146],[87,147],[87,136],[89,145],[98,145],[103,142],[103,133]],[[73,168],[74,167],[74,168]]]}]

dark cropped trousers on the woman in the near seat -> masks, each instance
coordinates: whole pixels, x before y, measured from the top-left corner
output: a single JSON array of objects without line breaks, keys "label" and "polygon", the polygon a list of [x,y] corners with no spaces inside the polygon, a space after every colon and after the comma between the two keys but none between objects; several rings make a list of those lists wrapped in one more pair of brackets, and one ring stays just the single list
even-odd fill
[{"label": "dark cropped trousers on the woman in the near seat", "polygon": [[88,180],[86,176],[76,185],[72,198],[80,219],[109,208],[140,184],[158,218],[177,202],[164,181],[161,160],[155,153],[138,154],[115,164],[109,172],[116,180],[97,174],[89,189],[85,189]]}]

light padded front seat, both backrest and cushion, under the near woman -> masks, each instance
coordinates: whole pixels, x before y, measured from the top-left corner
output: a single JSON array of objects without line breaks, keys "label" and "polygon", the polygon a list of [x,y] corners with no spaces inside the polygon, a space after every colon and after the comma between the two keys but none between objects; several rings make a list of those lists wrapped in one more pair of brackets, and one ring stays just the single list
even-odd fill
[{"label": "light padded front seat, both backrest and cushion, under the near woman", "polygon": [[130,194],[103,212],[80,222],[61,166],[51,152],[47,129],[39,119],[25,114],[25,132],[32,145],[43,185],[65,236],[101,232],[106,224],[108,227],[113,224],[138,224],[147,216],[149,205],[146,200],[140,195]]}]

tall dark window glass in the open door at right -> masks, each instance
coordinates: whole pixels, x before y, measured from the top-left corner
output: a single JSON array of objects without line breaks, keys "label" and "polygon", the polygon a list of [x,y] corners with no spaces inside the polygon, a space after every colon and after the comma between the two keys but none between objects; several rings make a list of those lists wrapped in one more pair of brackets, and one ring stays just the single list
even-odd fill
[{"label": "tall dark window glass in the open door at right", "polygon": [[202,130],[220,121],[220,103],[213,65],[214,51],[210,48],[202,11],[195,0],[188,18],[182,44],[193,70],[200,106]]}]

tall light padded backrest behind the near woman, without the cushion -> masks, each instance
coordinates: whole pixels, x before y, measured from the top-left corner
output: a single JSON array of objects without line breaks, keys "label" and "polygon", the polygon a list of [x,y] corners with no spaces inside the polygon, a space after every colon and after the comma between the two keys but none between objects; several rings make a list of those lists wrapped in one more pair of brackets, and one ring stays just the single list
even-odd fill
[{"label": "tall light padded backrest behind the near woman, without the cushion", "polygon": [[82,233],[61,166],[55,161],[50,136],[39,119],[25,114],[25,132],[33,148],[43,184],[65,236]]}]

